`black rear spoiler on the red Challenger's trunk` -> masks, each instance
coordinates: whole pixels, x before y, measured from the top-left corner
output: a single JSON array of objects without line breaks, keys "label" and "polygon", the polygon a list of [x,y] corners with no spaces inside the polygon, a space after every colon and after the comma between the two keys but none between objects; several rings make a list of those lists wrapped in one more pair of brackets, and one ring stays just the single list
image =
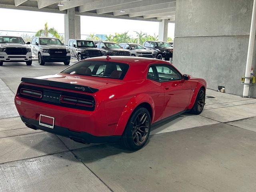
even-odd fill
[{"label": "black rear spoiler on the red Challenger's trunk", "polygon": [[98,89],[91,88],[91,87],[88,87],[88,86],[81,86],[81,85],[58,82],[58,81],[51,81],[51,80],[46,80],[46,79],[36,79],[36,78],[30,78],[30,77],[22,77],[21,81],[26,82],[26,83],[33,83],[33,84],[38,84],[38,85],[59,87],[59,88],[71,89],[71,90],[89,92],[89,93],[95,93],[95,92],[98,91]]}]

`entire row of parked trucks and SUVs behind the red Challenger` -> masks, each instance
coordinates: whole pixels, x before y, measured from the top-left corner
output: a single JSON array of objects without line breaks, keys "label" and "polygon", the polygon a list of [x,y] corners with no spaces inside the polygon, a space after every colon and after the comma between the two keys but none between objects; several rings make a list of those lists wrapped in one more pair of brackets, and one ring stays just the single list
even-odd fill
[{"label": "entire row of parked trucks and SUVs behind the red Challenger", "polygon": [[26,62],[32,64],[32,57],[40,65],[45,62],[70,64],[70,58],[78,61],[99,56],[137,56],[169,60],[173,47],[167,42],[146,41],[143,46],[135,43],[69,39],[64,45],[58,38],[33,37],[25,43],[22,37],[0,36],[0,66],[3,62]]}]

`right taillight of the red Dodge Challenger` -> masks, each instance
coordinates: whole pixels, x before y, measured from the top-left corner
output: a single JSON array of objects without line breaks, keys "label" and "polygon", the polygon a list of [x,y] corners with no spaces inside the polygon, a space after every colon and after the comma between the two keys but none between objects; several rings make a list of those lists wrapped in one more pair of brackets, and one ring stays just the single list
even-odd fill
[{"label": "right taillight of the red Dodge Challenger", "polygon": [[64,95],[60,96],[60,102],[66,103],[66,104],[71,104],[71,105],[76,105],[76,106],[84,106],[84,107],[93,107],[94,106],[94,102],[92,100],[64,96]]}]

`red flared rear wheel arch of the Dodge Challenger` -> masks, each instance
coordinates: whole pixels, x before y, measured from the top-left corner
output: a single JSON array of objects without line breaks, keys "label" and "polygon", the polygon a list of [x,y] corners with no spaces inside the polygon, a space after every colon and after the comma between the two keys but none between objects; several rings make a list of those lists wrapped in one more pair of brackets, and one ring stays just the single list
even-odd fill
[{"label": "red flared rear wheel arch of the Dodge Challenger", "polygon": [[131,114],[134,112],[134,109],[138,107],[142,103],[147,103],[151,107],[151,122],[154,119],[154,101],[153,99],[148,96],[147,94],[139,94],[137,96],[132,97],[124,107],[124,110],[118,120],[118,123],[116,125],[116,130],[114,131],[114,135],[122,135],[124,132],[124,129],[126,127],[126,124],[131,116]]}]

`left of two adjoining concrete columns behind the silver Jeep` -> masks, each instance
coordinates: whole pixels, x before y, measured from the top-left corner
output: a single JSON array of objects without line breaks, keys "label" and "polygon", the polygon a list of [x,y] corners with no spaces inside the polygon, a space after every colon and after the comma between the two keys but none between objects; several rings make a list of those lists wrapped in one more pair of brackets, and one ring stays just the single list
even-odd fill
[{"label": "left of two adjoining concrete columns behind the silver Jeep", "polygon": [[65,14],[65,44],[71,38],[75,38],[75,8],[68,9]]}]

